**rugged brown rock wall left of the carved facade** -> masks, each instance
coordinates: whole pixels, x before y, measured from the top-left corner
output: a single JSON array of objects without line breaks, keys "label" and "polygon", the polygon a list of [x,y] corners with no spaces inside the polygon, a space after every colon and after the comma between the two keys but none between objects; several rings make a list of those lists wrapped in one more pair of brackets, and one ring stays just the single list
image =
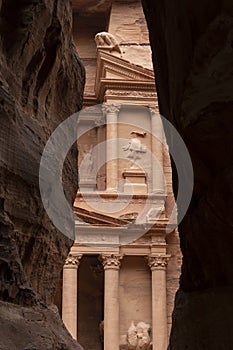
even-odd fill
[{"label": "rugged brown rock wall left of the carved facade", "polygon": [[[72,241],[48,219],[38,181],[49,135],[82,105],[71,18],[69,1],[0,2],[1,349],[79,349],[47,308]],[[77,179],[72,149],[63,171],[70,204]]]}]

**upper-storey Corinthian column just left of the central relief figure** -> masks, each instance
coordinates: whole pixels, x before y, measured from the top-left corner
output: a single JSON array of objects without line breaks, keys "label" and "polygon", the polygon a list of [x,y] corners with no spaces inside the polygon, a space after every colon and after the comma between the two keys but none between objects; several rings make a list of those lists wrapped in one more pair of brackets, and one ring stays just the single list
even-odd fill
[{"label": "upper-storey Corinthian column just left of the central relief figure", "polygon": [[118,170],[118,142],[117,142],[117,119],[120,110],[120,104],[103,104],[103,112],[106,114],[106,175],[107,190],[116,191],[117,189],[117,170]]}]

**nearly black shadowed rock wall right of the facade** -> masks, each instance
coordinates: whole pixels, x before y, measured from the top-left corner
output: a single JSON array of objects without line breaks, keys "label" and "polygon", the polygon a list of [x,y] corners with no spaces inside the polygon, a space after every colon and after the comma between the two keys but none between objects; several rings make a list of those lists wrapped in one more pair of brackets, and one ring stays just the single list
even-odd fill
[{"label": "nearly black shadowed rock wall right of the facade", "polygon": [[[171,350],[233,347],[233,4],[143,0],[161,113],[181,133],[194,192]],[[175,179],[175,187],[177,179]]]}]

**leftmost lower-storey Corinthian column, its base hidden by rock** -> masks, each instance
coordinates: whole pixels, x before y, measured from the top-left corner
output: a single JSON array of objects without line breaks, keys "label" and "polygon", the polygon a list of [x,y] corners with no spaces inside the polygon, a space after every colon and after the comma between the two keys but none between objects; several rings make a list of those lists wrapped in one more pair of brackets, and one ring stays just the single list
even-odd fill
[{"label": "leftmost lower-storey Corinthian column, its base hidden by rock", "polygon": [[77,270],[81,257],[69,254],[63,267],[62,319],[74,339],[77,339]]}]

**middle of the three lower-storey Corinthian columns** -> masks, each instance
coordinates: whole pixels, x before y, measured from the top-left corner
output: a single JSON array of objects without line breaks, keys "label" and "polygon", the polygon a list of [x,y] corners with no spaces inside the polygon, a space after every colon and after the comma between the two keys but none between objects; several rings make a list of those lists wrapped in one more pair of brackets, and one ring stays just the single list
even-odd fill
[{"label": "middle of the three lower-storey Corinthian columns", "polygon": [[119,350],[119,269],[122,256],[102,254],[104,266],[104,350]]}]

